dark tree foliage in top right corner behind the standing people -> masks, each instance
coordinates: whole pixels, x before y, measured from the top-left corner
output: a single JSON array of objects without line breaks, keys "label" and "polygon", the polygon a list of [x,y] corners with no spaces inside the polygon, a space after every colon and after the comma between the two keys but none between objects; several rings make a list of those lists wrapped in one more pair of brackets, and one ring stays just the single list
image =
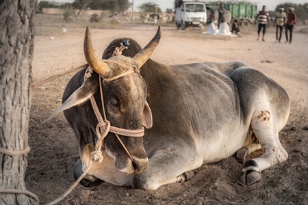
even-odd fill
[{"label": "dark tree foliage in top right corner behind the standing people", "polygon": [[305,20],[308,18],[308,3],[297,4],[297,3],[281,3],[277,5],[275,12],[279,12],[279,8],[285,8],[285,12],[288,13],[288,8],[293,7],[294,12],[297,15],[298,20],[303,21],[305,25]]}]

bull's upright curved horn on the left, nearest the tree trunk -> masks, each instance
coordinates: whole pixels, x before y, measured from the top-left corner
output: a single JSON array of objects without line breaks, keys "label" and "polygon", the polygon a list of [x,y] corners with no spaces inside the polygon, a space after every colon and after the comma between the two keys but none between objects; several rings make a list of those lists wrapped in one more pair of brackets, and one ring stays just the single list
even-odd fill
[{"label": "bull's upright curved horn on the left, nearest the tree trunk", "polygon": [[94,53],[90,27],[87,27],[86,36],[84,37],[84,56],[86,57],[88,64],[95,72],[101,74],[103,77],[107,75],[110,70],[109,66],[105,62],[101,61],[101,59],[99,59]]}]

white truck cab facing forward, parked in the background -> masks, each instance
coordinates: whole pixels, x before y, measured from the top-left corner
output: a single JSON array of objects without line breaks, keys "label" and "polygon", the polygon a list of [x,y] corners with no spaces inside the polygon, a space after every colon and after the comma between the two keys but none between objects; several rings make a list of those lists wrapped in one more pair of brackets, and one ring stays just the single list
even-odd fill
[{"label": "white truck cab facing forward, parked in the background", "polygon": [[205,1],[175,0],[175,25],[177,29],[202,27],[207,23]]}]

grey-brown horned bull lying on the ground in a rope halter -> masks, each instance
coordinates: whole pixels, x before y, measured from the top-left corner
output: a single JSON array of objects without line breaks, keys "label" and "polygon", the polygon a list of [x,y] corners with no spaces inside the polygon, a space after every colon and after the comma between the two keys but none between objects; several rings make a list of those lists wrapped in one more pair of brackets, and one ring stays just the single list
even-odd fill
[{"label": "grey-brown horned bull lying on the ground in a rope halter", "polygon": [[[279,141],[290,113],[285,90],[243,61],[159,64],[149,57],[161,33],[158,27],[144,49],[135,40],[116,39],[100,59],[87,28],[89,67],[70,79],[56,111],[64,111],[79,145],[75,179],[102,136],[101,161],[81,180],[86,187],[105,181],[155,190],[233,155],[244,163],[240,182],[250,185],[262,170],[286,161]],[[112,55],[123,40],[129,48]],[[261,156],[249,158],[260,149]]]}]

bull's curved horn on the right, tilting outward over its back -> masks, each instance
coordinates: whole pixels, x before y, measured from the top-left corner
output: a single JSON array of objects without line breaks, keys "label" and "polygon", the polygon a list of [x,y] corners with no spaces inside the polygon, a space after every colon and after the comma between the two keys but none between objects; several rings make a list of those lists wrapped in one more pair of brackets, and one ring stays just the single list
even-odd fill
[{"label": "bull's curved horn on the right, tilting outward over its back", "polygon": [[136,62],[136,64],[138,65],[138,68],[141,68],[141,66],[143,66],[143,64],[151,57],[152,53],[154,52],[154,50],[156,49],[159,43],[161,36],[162,36],[162,31],[160,30],[160,26],[159,26],[154,38],[149,42],[149,44],[147,44],[144,47],[144,49],[139,51],[139,53],[137,53],[133,57],[133,61]]}]

